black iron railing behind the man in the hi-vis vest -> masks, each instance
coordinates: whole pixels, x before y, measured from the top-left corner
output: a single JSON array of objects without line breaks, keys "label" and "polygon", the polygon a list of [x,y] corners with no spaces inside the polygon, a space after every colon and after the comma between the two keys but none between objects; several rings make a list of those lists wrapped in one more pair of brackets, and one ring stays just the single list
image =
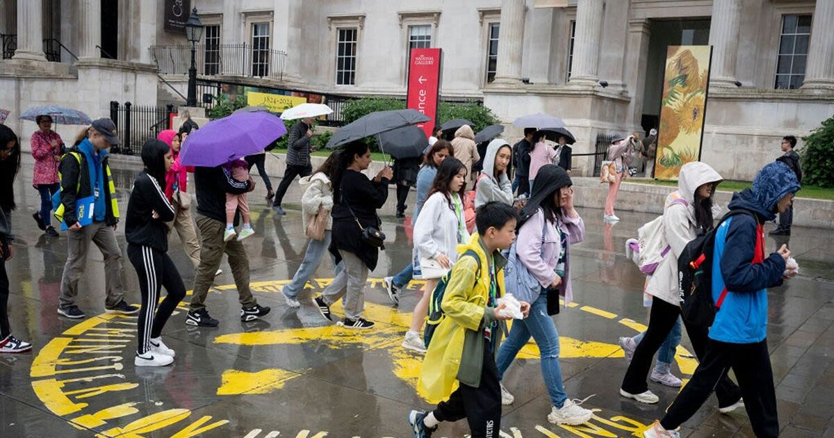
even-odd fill
[{"label": "black iron railing behind the man in the hi-vis vest", "polygon": [[113,154],[139,155],[148,138],[156,138],[160,131],[168,129],[173,105],[164,107],[110,102],[110,118],[116,123],[120,143],[110,149]]}]

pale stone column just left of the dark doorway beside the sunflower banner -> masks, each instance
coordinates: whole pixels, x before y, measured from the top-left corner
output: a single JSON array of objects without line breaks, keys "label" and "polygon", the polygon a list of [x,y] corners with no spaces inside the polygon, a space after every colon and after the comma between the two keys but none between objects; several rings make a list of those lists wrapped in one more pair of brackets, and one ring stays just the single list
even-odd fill
[{"label": "pale stone column just left of the dark doorway beside the sunflower banner", "polygon": [[593,85],[599,81],[597,69],[604,4],[603,0],[581,0],[577,3],[570,83]]}]

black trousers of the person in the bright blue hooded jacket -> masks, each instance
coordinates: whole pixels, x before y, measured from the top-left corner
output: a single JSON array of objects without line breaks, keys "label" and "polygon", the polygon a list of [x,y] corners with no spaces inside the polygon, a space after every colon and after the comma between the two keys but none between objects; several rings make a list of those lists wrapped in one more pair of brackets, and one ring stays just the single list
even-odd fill
[{"label": "black trousers of the person in the bright blue hooded jacket", "polygon": [[689,420],[727,371],[732,369],[741,386],[744,407],[756,436],[778,436],[779,417],[776,415],[776,390],[773,389],[773,370],[767,352],[767,340],[756,344],[728,344],[709,340],[706,355],[692,379],[666,410],[661,425],[675,429]]}]

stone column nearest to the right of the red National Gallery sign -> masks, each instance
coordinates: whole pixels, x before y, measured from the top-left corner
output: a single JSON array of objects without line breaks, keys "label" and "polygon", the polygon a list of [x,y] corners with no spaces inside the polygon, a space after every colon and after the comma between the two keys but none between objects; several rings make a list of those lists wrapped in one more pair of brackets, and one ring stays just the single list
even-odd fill
[{"label": "stone column nearest to the right of the red National Gallery sign", "polygon": [[521,81],[521,53],[524,47],[524,0],[503,0],[498,29],[498,60],[493,83]]}]

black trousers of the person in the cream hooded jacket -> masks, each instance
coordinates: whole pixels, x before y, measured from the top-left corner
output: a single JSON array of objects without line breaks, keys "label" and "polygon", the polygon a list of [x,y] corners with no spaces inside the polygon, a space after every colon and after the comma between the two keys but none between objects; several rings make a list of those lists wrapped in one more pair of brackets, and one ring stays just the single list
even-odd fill
[{"label": "black trousers of the person in the cream hooded jacket", "polygon": [[[640,394],[649,390],[646,378],[649,375],[649,370],[651,370],[651,361],[655,357],[657,350],[660,350],[661,345],[666,340],[666,336],[669,335],[672,326],[675,325],[675,321],[680,315],[681,307],[671,305],[659,298],[652,300],[649,328],[646,330],[646,335],[643,336],[641,343],[637,345],[634,357],[631,358],[631,364],[629,364],[628,370],[625,371],[622,384],[622,389],[625,392]],[[695,350],[696,357],[698,360],[703,359],[709,329],[686,324],[686,321],[684,321],[684,325],[686,326],[686,334],[689,335],[689,340],[692,343],[692,349]],[[738,386],[730,380],[730,377],[725,372],[719,380],[719,385],[716,387],[716,395],[718,397],[718,405],[725,407],[738,401],[741,397],[741,390],[738,389]]]}]

